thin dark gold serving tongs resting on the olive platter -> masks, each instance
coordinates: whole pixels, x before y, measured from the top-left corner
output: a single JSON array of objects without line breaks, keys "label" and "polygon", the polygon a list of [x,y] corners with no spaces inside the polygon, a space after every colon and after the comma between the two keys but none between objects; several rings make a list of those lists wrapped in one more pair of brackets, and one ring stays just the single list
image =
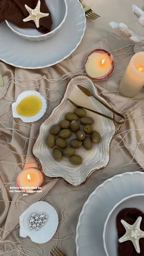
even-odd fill
[{"label": "thin dark gold serving tongs resting on the olive platter", "polygon": [[124,117],[122,114],[116,112],[116,111],[113,110],[110,106],[108,106],[107,104],[105,104],[102,100],[100,100],[99,98],[97,98],[96,96],[94,96],[87,88],[85,88],[85,87],[83,87],[83,86],[81,86],[81,85],[78,85],[78,88],[79,88],[84,94],[86,94],[88,97],[90,97],[90,96],[94,97],[96,100],[98,100],[100,103],[102,103],[102,105],[104,105],[106,108],[108,108],[108,109],[109,109],[110,111],[112,111],[114,114],[116,114],[117,116],[122,117],[123,120],[121,120],[121,122],[118,122],[118,121],[116,121],[114,118],[112,118],[111,116],[107,116],[107,115],[102,114],[102,113],[100,113],[100,112],[97,112],[97,111],[95,111],[95,110],[92,110],[92,109],[89,109],[89,108],[85,108],[85,107],[83,107],[83,106],[79,106],[79,105],[75,104],[72,100],[68,99],[69,102],[72,103],[72,105],[74,105],[76,108],[84,108],[84,109],[89,110],[89,111],[91,111],[91,112],[94,112],[94,113],[96,113],[96,114],[98,114],[98,115],[100,115],[100,116],[104,116],[104,117],[106,117],[106,118],[108,118],[108,119],[110,119],[110,120],[116,122],[117,124],[124,124],[125,117]]}]

